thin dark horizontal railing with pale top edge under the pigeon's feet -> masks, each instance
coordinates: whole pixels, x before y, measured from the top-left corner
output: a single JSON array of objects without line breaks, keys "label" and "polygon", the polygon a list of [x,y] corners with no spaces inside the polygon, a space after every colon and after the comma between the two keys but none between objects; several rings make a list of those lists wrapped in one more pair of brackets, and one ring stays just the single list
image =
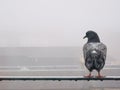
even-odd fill
[{"label": "thin dark horizontal railing with pale top edge under the pigeon's feet", "polygon": [[84,76],[0,76],[0,81],[3,80],[31,80],[31,81],[36,81],[36,80],[52,80],[52,81],[62,81],[62,80],[69,80],[69,81],[80,81],[80,80],[120,80],[120,76],[106,76],[104,78],[86,78]]}]

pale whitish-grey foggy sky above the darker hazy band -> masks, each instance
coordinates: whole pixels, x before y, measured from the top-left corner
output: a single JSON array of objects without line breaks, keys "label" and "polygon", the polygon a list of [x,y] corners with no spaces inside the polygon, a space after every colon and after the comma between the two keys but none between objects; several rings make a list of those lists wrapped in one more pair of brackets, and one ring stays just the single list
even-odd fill
[{"label": "pale whitish-grey foggy sky above the darker hazy band", "polygon": [[0,0],[0,47],[81,47],[94,30],[117,50],[119,24],[120,0]]}]

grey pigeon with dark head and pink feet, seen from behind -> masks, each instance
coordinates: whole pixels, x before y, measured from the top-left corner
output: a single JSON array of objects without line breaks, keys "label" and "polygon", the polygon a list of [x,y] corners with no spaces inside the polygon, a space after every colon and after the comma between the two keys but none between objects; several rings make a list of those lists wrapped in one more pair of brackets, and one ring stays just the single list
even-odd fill
[{"label": "grey pigeon with dark head and pink feet, seen from behind", "polygon": [[89,70],[89,75],[86,77],[92,77],[91,72],[96,70],[98,72],[96,77],[101,78],[103,76],[100,71],[105,65],[107,47],[100,42],[98,34],[94,31],[87,31],[84,38],[88,38],[87,43],[83,46],[85,66]]}]

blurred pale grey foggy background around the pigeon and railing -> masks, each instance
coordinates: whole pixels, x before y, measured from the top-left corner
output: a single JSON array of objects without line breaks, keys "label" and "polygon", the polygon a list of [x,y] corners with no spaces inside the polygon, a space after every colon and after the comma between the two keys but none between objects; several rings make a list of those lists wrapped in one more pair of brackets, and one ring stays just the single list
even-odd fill
[{"label": "blurred pale grey foggy background around the pigeon and railing", "polygon": [[[80,76],[86,31],[107,45],[103,75],[120,72],[120,0],[0,0],[0,76]],[[2,81],[3,90],[119,90],[119,81]],[[112,89],[111,89],[112,88]]]}]

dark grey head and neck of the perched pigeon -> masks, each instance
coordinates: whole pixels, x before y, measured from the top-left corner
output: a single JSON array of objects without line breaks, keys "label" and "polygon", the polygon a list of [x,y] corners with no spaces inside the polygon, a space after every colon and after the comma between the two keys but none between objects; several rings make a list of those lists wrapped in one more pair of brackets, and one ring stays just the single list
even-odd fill
[{"label": "dark grey head and neck of the perched pigeon", "polygon": [[94,31],[87,31],[86,36],[84,38],[88,38],[88,42],[100,42],[99,36]]}]

